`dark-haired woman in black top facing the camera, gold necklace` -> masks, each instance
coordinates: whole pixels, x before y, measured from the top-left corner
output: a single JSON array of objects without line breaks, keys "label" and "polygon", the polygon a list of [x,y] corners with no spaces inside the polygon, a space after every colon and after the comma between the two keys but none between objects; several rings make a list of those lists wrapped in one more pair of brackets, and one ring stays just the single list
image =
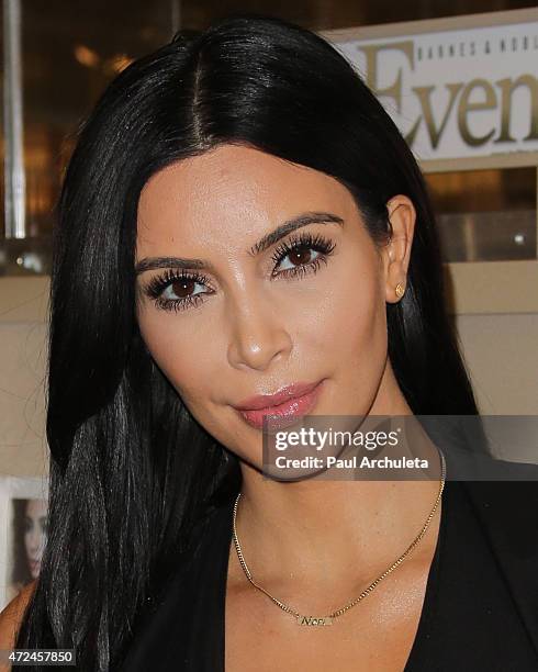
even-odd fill
[{"label": "dark-haired woman in black top facing the camera, gold necklace", "polygon": [[[536,669],[534,484],[450,482],[434,443],[427,480],[264,478],[271,405],[477,415],[419,169],[318,36],[233,18],[110,85],[59,202],[48,380],[19,647],[128,672]],[[507,494],[509,583],[484,536]]]}]

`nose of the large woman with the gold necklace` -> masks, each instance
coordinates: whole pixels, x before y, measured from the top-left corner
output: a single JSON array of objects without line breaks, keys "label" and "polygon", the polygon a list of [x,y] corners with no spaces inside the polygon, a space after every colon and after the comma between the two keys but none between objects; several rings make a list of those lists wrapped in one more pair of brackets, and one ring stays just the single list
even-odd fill
[{"label": "nose of the large woman with the gold necklace", "polygon": [[229,316],[227,357],[234,368],[266,371],[291,352],[292,340],[278,310],[260,293],[237,296],[229,305]]}]

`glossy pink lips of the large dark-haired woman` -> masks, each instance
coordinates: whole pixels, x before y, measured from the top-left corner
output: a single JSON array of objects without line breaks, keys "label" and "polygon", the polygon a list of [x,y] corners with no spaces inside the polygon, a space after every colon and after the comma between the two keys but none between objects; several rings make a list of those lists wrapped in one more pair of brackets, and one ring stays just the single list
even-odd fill
[{"label": "glossy pink lips of the large dark-haired woman", "polygon": [[234,408],[243,419],[258,429],[264,427],[264,417],[267,415],[270,416],[272,428],[282,428],[312,411],[317,402],[322,383],[323,380],[288,385],[276,394],[251,396]]}]

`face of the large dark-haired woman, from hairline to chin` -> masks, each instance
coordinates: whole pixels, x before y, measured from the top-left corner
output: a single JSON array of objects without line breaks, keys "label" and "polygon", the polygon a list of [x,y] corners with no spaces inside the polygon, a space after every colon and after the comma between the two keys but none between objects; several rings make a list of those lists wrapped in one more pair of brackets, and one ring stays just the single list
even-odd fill
[{"label": "face of the large dark-haired woman, from hairline to chin", "polygon": [[[310,223],[256,248],[290,222]],[[301,247],[290,251],[294,240]],[[143,338],[200,424],[260,467],[261,430],[235,407],[253,395],[320,383],[313,414],[394,411],[389,257],[380,249],[337,180],[254,148],[220,146],[162,169],[142,191]]]}]

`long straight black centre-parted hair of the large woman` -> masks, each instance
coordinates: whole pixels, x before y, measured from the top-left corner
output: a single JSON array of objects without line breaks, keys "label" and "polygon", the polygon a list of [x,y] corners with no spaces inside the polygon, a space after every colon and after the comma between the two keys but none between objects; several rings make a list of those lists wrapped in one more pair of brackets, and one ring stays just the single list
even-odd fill
[{"label": "long straight black centre-parted hair of the large woman", "polygon": [[296,25],[235,15],[135,60],[80,128],[54,234],[49,533],[18,647],[75,648],[79,670],[121,662],[197,522],[240,486],[237,458],[189,414],[135,312],[143,186],[223,143],[333,176],[376,242],[390,233],[386,202],[411,198],[406,292],[386,305],[391,363],[413,413],[478,413],[421,170],[346,59]]}]

